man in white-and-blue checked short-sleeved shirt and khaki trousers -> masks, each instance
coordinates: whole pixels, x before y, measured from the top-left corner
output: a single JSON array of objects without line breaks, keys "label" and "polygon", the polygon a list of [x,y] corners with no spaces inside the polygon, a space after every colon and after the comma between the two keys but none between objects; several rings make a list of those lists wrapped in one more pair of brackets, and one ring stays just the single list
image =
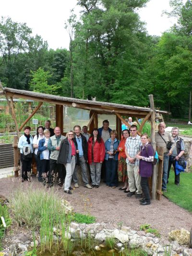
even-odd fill
[{"label": "man in white-and-blue checked short-sleeved shirt and khaki trousers", "polygon": [[127,163],[127,174],[129,177],[129,190],[127,194],[131,197],[135,193],[136,198],[142,197],[142,187],[141,187],[141,176],[139,175],[139,160],[135,158],[140,150],[141,137],[137,134],[137,126],[132,125],[130,127],[130,132],[132,136],[127,138],[125,143],[125,154]]}]

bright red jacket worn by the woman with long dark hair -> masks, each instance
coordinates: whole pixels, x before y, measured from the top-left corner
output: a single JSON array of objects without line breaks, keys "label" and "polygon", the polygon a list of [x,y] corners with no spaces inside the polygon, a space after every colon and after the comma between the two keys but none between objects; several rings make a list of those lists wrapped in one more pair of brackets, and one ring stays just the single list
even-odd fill
[{"label": "bright red jacket worn by the woman with long dark hair", "polygon": [[[91,137],[88,140],[88,163],[92,164],[92,141],[94,137]],[[94,147],[93,147],[93,161],[95,163],[103,162],[105,158],[105,144],[103,139],[101,138],[101,142],[98,143],[96,140]]]}]

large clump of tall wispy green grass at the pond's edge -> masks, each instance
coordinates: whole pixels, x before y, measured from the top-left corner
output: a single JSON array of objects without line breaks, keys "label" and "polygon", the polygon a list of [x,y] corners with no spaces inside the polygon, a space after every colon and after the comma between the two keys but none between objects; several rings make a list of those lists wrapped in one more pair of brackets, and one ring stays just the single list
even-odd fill
[{"label": "large clump of tall wispy green grass at the pond's edge", "polygon": [[[12,197],[11,206],[15,221],[32,230],[39,230],[42,251],[46,249],[51,251],[53,228],[60,225],[66,227],[68,223],[64,206],[54,190],[47,192],[43,188],[36,190],[28,188],[26,191],[19,189]],[[57,236],[59,238],[58,234]],[[62,242],[64,239],[67,239],[65,232]],[[57,245],[59,249],[59,242]]]}]

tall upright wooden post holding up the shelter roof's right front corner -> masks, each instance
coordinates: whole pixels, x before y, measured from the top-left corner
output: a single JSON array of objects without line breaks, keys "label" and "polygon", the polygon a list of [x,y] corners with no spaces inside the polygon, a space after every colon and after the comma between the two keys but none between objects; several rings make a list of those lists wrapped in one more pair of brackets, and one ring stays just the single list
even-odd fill
[{"label": "tall upright wooden post holding up the shelter roof's right front corner", "polygon": [[[155,106],[153,95],[149,95],[151,110],[151,145],[153,146],[154,152],[156,152],[156,141],[155,141]],[[156,181],[157,181],[157,168],[156,165],[153,166],[153,184],[152,184],[152,199],[156,200]]]}]

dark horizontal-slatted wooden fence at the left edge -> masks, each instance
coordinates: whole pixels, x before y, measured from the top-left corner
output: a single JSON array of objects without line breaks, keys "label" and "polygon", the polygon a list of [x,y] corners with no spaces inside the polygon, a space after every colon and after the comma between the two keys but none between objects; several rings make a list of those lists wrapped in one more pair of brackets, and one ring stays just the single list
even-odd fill
[{"label": "dark horizontal-slatted wooden fence at the left edge", "polygon": [[12,143],[0,144],[0,168],[14,166]]}]

